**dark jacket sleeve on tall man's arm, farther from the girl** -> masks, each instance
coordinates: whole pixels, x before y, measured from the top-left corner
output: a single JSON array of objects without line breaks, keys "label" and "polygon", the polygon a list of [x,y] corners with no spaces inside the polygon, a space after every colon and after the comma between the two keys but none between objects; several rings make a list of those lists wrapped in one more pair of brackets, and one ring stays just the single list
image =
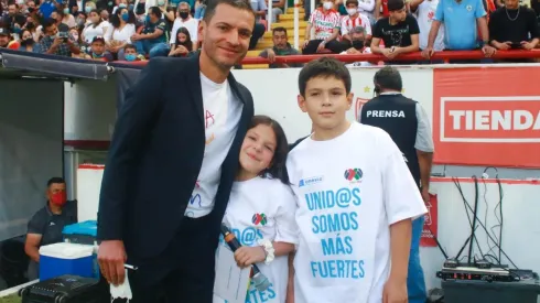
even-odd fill
[{"label": "dark jacket sleeve on tall man's arm, farther from the girl", "polygon": [[166,58],[149,61],[139,79],[126,94],[115,126],[99,196],[98,230],[100,240],[121,240],[123,216],[128,207],[130,173],[137,154],[152,131],[161,100],[161,84]]}]

